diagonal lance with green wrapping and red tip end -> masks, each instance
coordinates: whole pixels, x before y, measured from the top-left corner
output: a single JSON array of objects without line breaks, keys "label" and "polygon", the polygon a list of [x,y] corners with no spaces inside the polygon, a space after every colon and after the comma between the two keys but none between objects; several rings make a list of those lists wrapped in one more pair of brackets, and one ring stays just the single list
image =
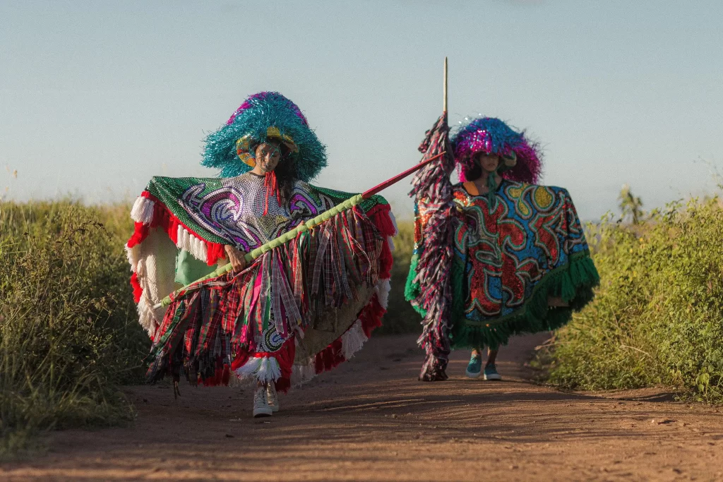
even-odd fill
[{"label": "diagonal lance with green wrapping and red tip end", "polygon": [[[257,259],[258,257],[261,257],[262,254],[267,253],[268,251],[271,251],[272,249],[278,248],[279,246],[282,246],[283,244],[288,243],[289,241],[296,239],[296,236],[299,236],[300,233],[304,233],[304,231],[309,231],[311,228],[315,228],[316,226],[320,225],[321,223],[324,223],[325,221],[329,220],[330,218],[333,218],[335,215],[338,215],[340,212],[344,212],[348,209],[351,209],[352,207],[356,206],[361,202],[363,199],[369,199],[369,197],[374,196],[378,192],[382,191],[383,189],[387,189],[392,184],[395,184],[399,181],[401,181],[403,178],[406,178],[406,176],[409,176],[411,173],[414,173],[416,171],[419,171],[419,169],[423,168],[425,165],[434,162],[435,160],[442,157],[442,155],[445,155],[445,152],[440,152],[439,154],[435,155],[432,158],[426,159],[422,161],[421,163],[414,165],[412,168],[408,168],[403,173],[398,173],[393,178],[387,179],[386,181],[382,182],[381,184],[377,184],[377,186],[372,187],[372,189],[369,189],[368,191],[364,191],[361,194],[356,194],[356,196],[352,196],[349,199],[346,199],[346,201],[341,202],[338,205],[335,205],[330,210],[322,212],[320,215],[318,215],[316,218],[312,218],[308,220],[306,223],[301,223],[300,225],[296,226],[296,228],[292,229],[291,231],[286,231],[286,233],[283,233],[281,236],[278,236],[278,238],[274,238],[271,241],[269,241],[266,244],[263,244],[262,246],[259,246],[256,249],[253,249],[252,251],[249,251],[245,256],[244,259],[246,259],[246,262],[252,262],[254,259]],[[204,277],[201,277],[198,280],[195,280],[193,283],[190,283],[188,285],[185,285],[183,288],[179,288],[178,290],[174,291],[170,295],[166,296],[166,298],[163,298],[160,303],[157,303],[153,306],[153,308],[161,308],[161,306],[168,306],[171,304],[171,301],[174,301],[174,298],[181,293],[182,291],[187,291],[194,287],[197,283],[201,283],[205,280],[210,280],[214,277],[219,277],[223,275],[224,273],[227,273],[233,269],[233,266],[231,266],[231,263],[225,264],[222,267],[218,268],[218,270],[215,270],[214,272],[210,273],[210,275],[206,275]]]}]

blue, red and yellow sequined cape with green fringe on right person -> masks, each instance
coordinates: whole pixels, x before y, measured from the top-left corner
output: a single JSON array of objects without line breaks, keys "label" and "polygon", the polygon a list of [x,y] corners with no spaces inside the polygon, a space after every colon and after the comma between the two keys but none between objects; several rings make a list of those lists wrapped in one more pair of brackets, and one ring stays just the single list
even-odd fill
[{"label": "blue, red and yellow sequined cape with green fringe on right person", "polygon": [[[487,194],[468,182],[453,186],[453,204],[454,259],[445,281],[453,295],[453,348],[497,348],[511,335],[554,330],[591,300],[599,277],[567,190],[503,180],[490,205]],[[410,301],[419,291],[416,259],[424,223],[420,203]],[[548,297],[569,306],[551,308]]]}]

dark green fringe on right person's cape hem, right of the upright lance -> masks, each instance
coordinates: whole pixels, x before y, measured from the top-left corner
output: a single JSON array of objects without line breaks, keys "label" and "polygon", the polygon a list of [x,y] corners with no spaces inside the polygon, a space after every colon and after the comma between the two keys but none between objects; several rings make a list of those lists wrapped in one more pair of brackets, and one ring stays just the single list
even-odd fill
[{"label": "dark green fringe on right person's cape hem, right of the upright lance", "polygon": [[[532,295],[523,306],[512,313],[484,322],[466,319],[463,306],[458,302],[462,295],[463,267],[453,266],[453,322],[450,341],[453,348],[482,348],[493,350],[507,345],[510,336],[556,330],[570,321],[574,311],[579,311],[594,297],[593,288],[600,283],[600,276],[589,251],[573,254],[568,264],[548,272],[535,285]],[[570,306],[552,308],[548,296],[562,298]]]}]

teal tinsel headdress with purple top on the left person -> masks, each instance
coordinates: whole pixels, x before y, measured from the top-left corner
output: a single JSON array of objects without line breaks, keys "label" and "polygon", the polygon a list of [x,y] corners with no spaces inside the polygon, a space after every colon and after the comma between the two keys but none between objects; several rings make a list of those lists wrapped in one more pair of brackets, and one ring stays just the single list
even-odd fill
[{"label": "teal tinsel headdress with purple top on the left person", "polygon": [[254,146],[266,139],[286,145],[301,181],[310,181],[326,166],[326,147],[295,103],[278,92],[250,95],[226,124],[206,137],[202,165],[220,168],[221,177],[239,176],[255,165]]}]

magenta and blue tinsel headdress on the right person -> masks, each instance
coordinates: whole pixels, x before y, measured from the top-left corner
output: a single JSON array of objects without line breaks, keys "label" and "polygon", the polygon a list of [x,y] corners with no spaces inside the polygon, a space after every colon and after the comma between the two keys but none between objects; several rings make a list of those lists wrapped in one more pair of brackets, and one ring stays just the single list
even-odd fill
[{"label": "magenta and blue tinsel headdress on the right person", "polygon": [[[495,117],[473,119],[450,139],[454,150],[455,163],[460,165],[461,181],[474,165],[474,156],[479,152],[502,156],[500,175],[512,181],[534,184],[542,171],[542,151],[536,142],[516,132]],[[516,161],[516,162],[515,162]]]}]

